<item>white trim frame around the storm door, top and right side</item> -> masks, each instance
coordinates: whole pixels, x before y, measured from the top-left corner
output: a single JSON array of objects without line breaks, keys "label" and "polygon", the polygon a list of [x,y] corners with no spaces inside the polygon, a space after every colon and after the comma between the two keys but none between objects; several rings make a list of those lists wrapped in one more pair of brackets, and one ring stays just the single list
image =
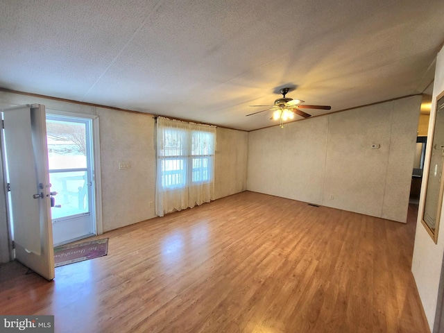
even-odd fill
[{"label": "white trim frame around the storm door, top and right side", "polygon": [[[102,176],[101,176],[101,159],[100,159],[100,132],[99,132],[99,116],[94,114],[66,112],[54,109],[46,108],[46,114],[62,116],[67,118],[83,118],[92,120],[92,159],[93,159],[93,171],[92,176],[94,178],[94,210],[96,213],[96,233],[103,234],[103,214],[102,214]],[[1,199],[1,198],[0,198]]]}]

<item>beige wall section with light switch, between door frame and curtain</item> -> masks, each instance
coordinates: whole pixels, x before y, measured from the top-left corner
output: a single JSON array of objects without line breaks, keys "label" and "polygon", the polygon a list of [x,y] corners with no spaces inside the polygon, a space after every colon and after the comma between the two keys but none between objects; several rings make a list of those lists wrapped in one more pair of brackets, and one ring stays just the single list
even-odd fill
[{"label": "beige wall section with light switch, between door frame and curtain", "polygon": [[[153,116],[106,108],[96,108],[96,114],[100,119],[103,231],[155,217]],[[119,170],[119,162],[130,162],[130,169]]]}]

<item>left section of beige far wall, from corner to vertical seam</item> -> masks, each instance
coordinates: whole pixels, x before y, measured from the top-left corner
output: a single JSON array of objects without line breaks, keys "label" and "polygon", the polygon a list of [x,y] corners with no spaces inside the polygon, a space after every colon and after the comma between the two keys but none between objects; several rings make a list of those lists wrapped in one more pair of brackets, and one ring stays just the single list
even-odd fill
[{"label": "left section of beige far wall, from corner to vertical seam", "polygon": [[321,204],[327,128],[317,117],[250,132],[247,189]]}]

